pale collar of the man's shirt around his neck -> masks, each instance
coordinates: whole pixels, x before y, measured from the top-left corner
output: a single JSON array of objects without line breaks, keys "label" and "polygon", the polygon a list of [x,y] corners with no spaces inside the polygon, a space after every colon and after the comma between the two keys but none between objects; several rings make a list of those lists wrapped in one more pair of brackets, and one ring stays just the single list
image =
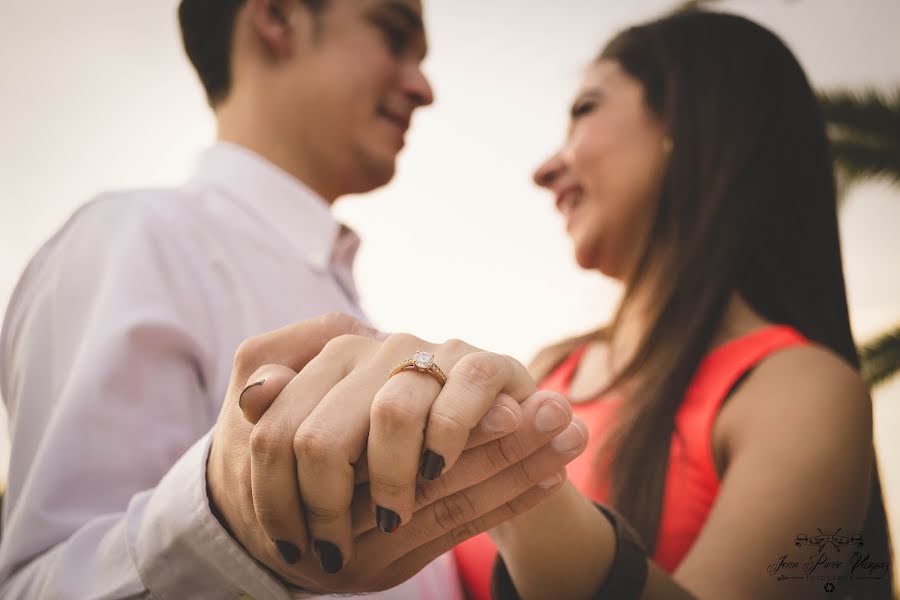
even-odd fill
[{"label": "pale collar of the man's shirt around his neck", "polygon": [[290,240],[318,271],[328,268],[336,251],[340,262],[353,262],[359,238],[335,219],[328,203],[251,150],[217,142],[200,155],[191,183],[221,189],[241,202],[268,230]]}]

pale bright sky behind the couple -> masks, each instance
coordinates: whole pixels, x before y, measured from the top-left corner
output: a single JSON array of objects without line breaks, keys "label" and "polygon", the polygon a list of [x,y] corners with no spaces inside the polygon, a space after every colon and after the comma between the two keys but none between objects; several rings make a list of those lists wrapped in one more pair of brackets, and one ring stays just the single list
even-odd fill
[{"label": "pale bright sky behind the couple", "polygon": [[[78,205],[107,189],[177,184],[212,140],[178,39],[177,4],[0,3],[0,307],[29,256]],[[562,138],[582,67],[619,28],[675,2],[424,4],[437,102],[415,119],[394,181],[336,208],[363,238],[364,307],[386,330],[458,337],[527,360],[541,345],[602,322],[618,295],[574,265],[552,200],[531,184],[531,171]],[[896,0],[722,7],[779,33],[817,87],[900,87]],[[861,186],[841,217],[862,340],[900,322],[900,192]],[[421,269],[417,259],[439,269]],[[898,426],[900,378],[876,394],[895,523]]]}]

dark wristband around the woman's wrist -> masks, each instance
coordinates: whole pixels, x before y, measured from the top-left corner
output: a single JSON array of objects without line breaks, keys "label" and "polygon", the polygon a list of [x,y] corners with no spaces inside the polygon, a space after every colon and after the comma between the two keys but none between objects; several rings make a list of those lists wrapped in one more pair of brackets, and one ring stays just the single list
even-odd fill
[{"label": "dark wristband around the woman's wrist", "polygon": [[[639,600],[647,583],[647,554],[644,547],[624,519],[612,509],[596,502],[594,504],[613,526],[616,551],[606,580],[593,597],[597,600]],[[491,572],[491,598],[520,600],[506,563],[499,553],[494,559]]]}]

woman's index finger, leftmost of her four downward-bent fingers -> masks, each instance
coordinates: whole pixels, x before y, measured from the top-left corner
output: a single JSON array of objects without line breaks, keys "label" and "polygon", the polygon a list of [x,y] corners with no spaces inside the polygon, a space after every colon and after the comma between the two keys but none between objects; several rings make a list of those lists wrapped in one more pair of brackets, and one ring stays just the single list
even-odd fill
[{"label": "woman's index finger, leftmost of her four downward-bent fingers", "polygon": [[[317,452],[316,440],[297,433],[318,399],[352,368],[353,340],[336,338],[288,383],[261,415],[250,436],[253,509],[260,527],[284,563],[296,564],[309,551],[309,530],[298,485],[296,452]],[[266,384],[268,385],[268,383]]]}]

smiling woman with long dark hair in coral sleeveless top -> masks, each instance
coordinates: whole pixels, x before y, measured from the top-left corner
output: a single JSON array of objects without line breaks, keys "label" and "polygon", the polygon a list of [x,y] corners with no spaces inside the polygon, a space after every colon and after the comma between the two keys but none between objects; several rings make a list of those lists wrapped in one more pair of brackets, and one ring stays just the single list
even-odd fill
[{"label": "smiling woman with long dark hair in coral sleeveless top", "polygon": [[[831,156],[797,61],[744,18],[676,13],[614,38],[571,117],[535,181],[579,265],[625,294],[609,326],[532,365],[590,443],[549,499],[491,530],[495,593],[890,598]],[[488,597],[490,540],[454,552]]]}]

